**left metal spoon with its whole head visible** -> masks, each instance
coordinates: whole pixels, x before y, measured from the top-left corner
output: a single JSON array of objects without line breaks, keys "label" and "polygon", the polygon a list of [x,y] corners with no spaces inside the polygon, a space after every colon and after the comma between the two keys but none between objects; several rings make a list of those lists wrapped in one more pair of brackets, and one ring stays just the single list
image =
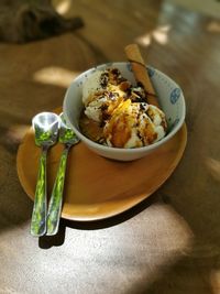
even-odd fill
[{"label": "left metal spoon with its whole head visible", "polygon": [[35,130],[35,143],[42,148],[31,220],[31,235],[38,237],[46,232],[46,154],[57,141],[59,117],[52,112],[41,112],[33,118],[32,126]]}]

